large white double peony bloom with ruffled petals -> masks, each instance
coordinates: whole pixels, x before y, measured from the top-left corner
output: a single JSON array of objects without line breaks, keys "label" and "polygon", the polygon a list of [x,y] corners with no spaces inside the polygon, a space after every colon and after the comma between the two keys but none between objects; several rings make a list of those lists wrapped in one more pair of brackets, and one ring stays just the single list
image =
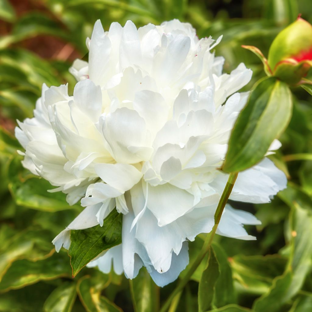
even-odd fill
[{"label": "large white double peony bloom with ruffled petals", "polygon": [[[122,244],[88,266],[132,279],[145,266],[156,284],[175,280],[188,264],[188,242],[208,233],[228,174],[219,170],[251,79],[240,64],[222,74],[223,57],[211,37],[198,39],[178,20],[137,30],[128,21],[87,39],[89,63],[76,60],[79,81],[47,88],[34,118],[16,128],[23,165],[85,209],[53,240],[70,246],[70,230],[103,225],[123,214]],[[275,141],[272,149],[279,148]],[[265,158],[239,173],[230,199],[265,203],[285,188],[284,173]],[[255,239],[244,224],[260,224],[227,205],[217,234]]]}]

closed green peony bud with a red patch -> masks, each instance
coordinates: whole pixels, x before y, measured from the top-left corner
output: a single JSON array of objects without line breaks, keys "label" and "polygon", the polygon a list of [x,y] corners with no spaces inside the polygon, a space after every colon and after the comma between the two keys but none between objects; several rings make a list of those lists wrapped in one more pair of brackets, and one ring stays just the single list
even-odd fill
[{"label": "closed green peony bud with a red patch", "polygon": [[312,66],[312,25],[298,17],[274,39],[268,56],[272,75],[299,84]]}]

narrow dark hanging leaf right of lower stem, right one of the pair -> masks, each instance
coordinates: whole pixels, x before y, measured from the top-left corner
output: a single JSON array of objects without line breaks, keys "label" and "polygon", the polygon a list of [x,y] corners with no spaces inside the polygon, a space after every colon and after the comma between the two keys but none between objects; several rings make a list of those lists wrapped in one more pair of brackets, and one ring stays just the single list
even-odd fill
[{"label": "narrow dark hanging leaf right of lower stem, right one of the pair", "polygon": [[227,261],[227,255],[222,247],[213,243],[212,248],[217,258],[220,271],[219,277],[215,284],[213,305],[216,307],[223,307],[224,305],[235,302],[232,269]]}]

